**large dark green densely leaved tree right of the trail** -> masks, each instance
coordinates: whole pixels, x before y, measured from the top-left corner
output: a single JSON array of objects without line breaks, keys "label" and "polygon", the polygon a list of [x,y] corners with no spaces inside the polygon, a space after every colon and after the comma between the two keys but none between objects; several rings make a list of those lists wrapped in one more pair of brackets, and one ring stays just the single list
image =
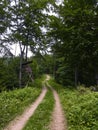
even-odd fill
[{"label": "large dark green densely leaved tree right of the trail", "polygon": [[97,7],[93,0],[64,0],[63,4],[56,8],[58,15],[50,16],[49,35],[56,39],[54,49],[58,58],[64,58],[58,72],[64,73],[65,76],[66,72],[62,68],[66,68],[67,64],[71,75],[74,72],[76,86],[78,82],[95,84],[94,68],[98,54],[95,48],[97,44],[94,35],[97,33],[94,18],[97,15]]}]

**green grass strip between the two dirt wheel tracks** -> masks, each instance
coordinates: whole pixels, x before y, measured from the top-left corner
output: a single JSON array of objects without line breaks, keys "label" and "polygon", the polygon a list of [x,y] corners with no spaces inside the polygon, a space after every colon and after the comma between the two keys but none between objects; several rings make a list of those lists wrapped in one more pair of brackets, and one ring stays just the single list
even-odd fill
[{"label": "green grass strip between the two dirt wheel tracks", "polygon": [[54,98],[49,90],[23,130],[48,130],[53,107]]}]

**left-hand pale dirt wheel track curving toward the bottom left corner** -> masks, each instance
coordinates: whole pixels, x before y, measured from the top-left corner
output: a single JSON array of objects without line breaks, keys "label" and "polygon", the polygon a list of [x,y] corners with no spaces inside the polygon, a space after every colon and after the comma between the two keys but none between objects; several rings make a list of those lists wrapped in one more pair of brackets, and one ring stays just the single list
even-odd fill
[{"label": "left-hand pale dirt wheel track curving toward the bottom left corner", "polygon": [[42,102],[46,92],[47,89],[44,87],[36,101],[20,117],[13,120],[4,130],[22,130],[29,118],[37,109],[38,105]]}]

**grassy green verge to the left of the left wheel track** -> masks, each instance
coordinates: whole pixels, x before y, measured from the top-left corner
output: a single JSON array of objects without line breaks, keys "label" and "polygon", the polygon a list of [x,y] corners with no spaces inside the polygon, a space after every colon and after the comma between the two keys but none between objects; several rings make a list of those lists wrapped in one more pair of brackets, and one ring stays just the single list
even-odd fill
[{"label": "grassy green verge to the left of the left wheel track", "polygon": [[31,87],[17,89],[0,94],[0,130],[21,114],[40,94],[42,80],[37,79]]}]

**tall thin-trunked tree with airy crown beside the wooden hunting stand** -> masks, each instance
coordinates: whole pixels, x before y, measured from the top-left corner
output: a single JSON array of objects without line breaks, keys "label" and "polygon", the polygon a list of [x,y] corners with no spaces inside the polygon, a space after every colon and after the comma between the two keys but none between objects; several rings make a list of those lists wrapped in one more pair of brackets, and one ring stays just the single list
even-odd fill
[{"label": "tall thin-trunked tree with airy crown beside the wooden hunting stand", "polygon": [[[52,2],[52,0],[50,1]],[[20,46],[20,73],[19,86],[22,81],[22,63],[27,61],[28,48],[33,52],[39,50],[42,43],[41,27],[45,24],[45,15],[43,9],[50,3],[48,0],[43,1],[16,1],[13,0],[14,5],[10,6],[12,21],[11,32],[15,42]]]}]

